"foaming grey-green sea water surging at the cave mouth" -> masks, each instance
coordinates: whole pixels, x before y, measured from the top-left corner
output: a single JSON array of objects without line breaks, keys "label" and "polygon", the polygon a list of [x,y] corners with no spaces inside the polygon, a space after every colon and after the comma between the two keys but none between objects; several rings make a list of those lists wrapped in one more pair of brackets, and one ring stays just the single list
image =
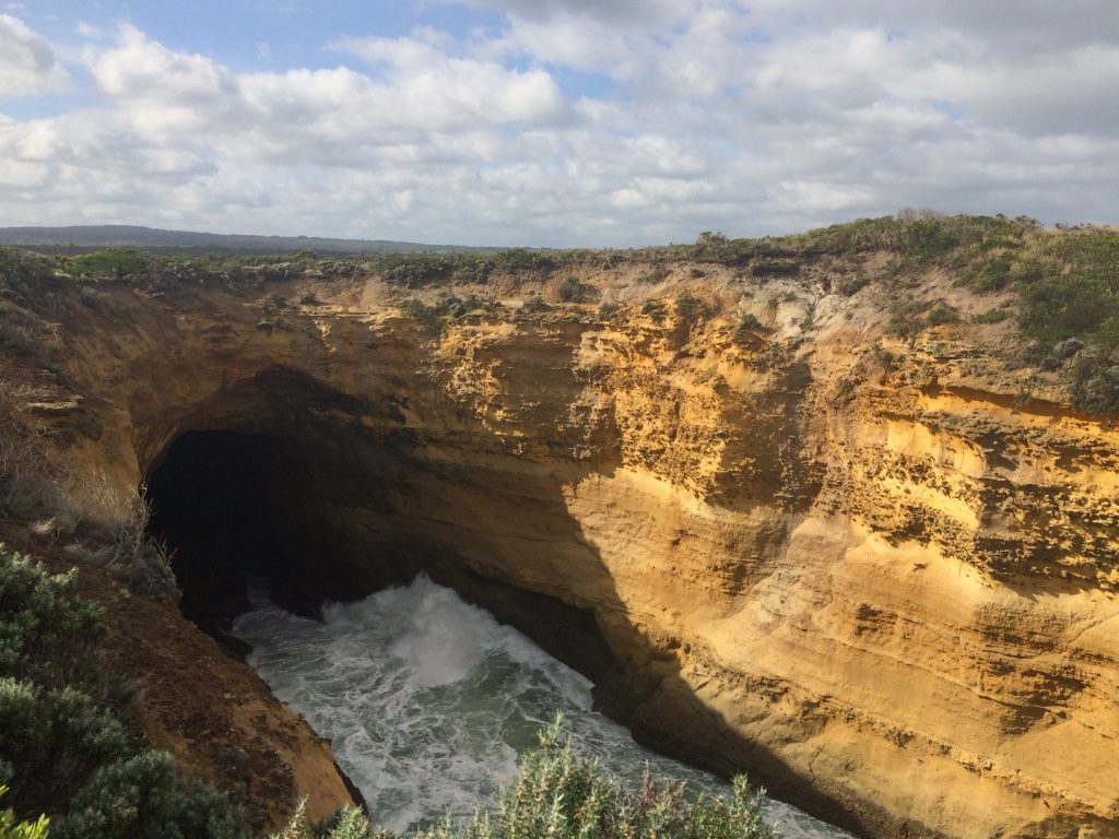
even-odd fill
[{"label": "foaming grey-green sea water surging at the cave mouth", "polygon": [[[562,710],[575,751],[637,784],[658,779],[712,792],[718,777],[658,755],[591,710],[591,682],[517,630],[426,577],[326,609],[322,622],[263,595],[234,634],[282,701],[333,743],[374,821],[402,831],[448,808],[474,812],[513,777],[518,753]],[[788,839],[849,837],[778,801],[767,819]]]}]

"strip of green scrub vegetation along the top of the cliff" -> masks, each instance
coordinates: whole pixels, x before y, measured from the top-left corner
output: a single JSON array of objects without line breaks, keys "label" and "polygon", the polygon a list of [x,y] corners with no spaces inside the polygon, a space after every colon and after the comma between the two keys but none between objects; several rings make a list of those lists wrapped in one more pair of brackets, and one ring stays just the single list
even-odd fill
[{"label": "strip of green scrub vegetation along the top of the cliff", "polygon": [[[583,286],[571,271],[637,267],[650,280],[667,275],[674,265],[713,264],[759,283],[793,276],[806,262],[829,258],[855,264],[863,254],[886,254],[884,268],[839,272],[834,291],[855,294],[880,287],[891,303],[890,328],[912,338],[929,326],[955,322],[957,313],[937,308],[913,293],[913,283],[929,271],[942,270],[975,294],[999,294],[998,305],[974,318],[994,324],[1015,317],[1022,358],[1043,369],[1063,368],[1076,407],[1092,412],[1119,411],[1119,230],[1108,227],[1046,229],[1027,217],[943,216],[903,211],[807,233],[755,239],[704,233],[690,244],[629,251],[526,251],[499,253],[370,254],[320,260],[310,252],[292,256],[156,257],[140,251],[109,248],[81,256],[44,256],[0,247],[0,349],[34,358],[50,367],[39,323],[29,298],[77,283],[82,301],[107,305],[104,290],[125,284],[143,293],[173,294],[189,286],[219,286],[234,292],[263,289],[297,277],[380,276],[401,290],[457,284],[486,284],[492,277],[555,276],[554,302],[594,303],[594,289]],[[837,264],[838,264],[837,263]],[[694,268],[703,272],[703,268]],[[1007,295],[1013,295],[1012,303]],[[526,312],[546,311],[544,298]],[[414,299],[407,314],[425,328],[493,302],[478,296],[448,296],[444,302]],[[1008,308],[1009,307],[1009,308]],[[1012,313],[1013,310],[1013,313]],[[41,320],[41,319],[39,319]],[[265,313],[260,326],[272,331],[283,323]],[[1091,362],[1070,362],[1072,355],[1054,348],[1075,339]]]}]

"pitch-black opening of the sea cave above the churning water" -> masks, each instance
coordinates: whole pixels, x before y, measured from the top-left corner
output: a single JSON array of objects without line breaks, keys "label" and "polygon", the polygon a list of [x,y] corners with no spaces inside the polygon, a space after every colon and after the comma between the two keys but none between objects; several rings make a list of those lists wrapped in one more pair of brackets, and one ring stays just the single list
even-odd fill
[{"label": "pitch-black opening of the sea cave above the churning water", "polygon": [[289,538],[291,511],[310,480],[294,437],[194,431],[173,441],[148,475],[149,531],[172,552],[187,618],[223,634],[250,609],[253,579],[284,609],[311,616],[323,598],[368,593],[354,591],[337,567],[311,574],[305,540]]}]

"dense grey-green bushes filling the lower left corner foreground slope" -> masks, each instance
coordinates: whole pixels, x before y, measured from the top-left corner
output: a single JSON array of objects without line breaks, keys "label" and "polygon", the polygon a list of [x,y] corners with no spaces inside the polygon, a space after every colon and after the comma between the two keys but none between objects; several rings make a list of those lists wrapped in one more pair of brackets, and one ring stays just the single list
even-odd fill
[{"label": "dense grey-green bushes filling the lower left corner foreground slope", "polygon": [[102,633],[73,571],[47,574],[0,546],[0,783],[13,813],[56,816],[51,832],[68,839],[243,839],[224,796],[170,755],[138,751],[104,698]]}]

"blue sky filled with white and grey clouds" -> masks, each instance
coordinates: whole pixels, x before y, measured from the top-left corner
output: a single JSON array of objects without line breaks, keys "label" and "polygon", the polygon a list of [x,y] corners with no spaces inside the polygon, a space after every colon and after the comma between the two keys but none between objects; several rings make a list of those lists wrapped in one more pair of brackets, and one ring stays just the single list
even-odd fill
[{"label": "blue sky filled with white and grey clouds", "polygon": [[1116,0],[0,0],[0,226],[1119,221]]}]

